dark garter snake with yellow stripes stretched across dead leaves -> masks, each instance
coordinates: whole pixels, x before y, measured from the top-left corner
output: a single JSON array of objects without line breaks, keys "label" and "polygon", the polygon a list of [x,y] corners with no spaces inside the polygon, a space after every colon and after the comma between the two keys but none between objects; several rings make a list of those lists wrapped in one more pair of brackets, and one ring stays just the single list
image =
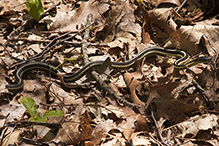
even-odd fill
[{"label": "dark garter snake with yellow stripes stretched across dead leaves", "polygon": [[[164,49],[162,47],[149,47],[144,49],[142,52],[140,52],[136,57],[132,58],[129,61],[126,62],[112,62],[112,67],[115,69],[127,69],[132,67],[135,64],[135,61],[141,62],[144,57],[148,57],[151,55],[171,55],[171,56],[177,56],[179,57],[178,60],[174,62],[174,67],[178,69],[184,69],[186,66],[190,67],[197,63],[207,63],[211,60],[211,57],[209,56],[202,56],[197,57],[192,60],[189,60],[189,56],[186,52],[180,51],[180,50],[172,50],[172,49]],[[73,74],[67,74],[64,75],[63,80],[65,82],[73,82],[78,79],[80,79],[82,76],[85,75],[85,73],[95,66],[100,66],[104,61],[93,61],[88,64],[86,64],[82,69],[78,70],[76,73]],[[50,65],[45,62],[29,62],[18,68],[15,74],[15,78],[17,81],[17,84],[10,84],[6,85],[6,88],[10,91],[16,91],[23,88],[23,79],[22,75],[28,71],[33,69],[40,69],[40,70],[46,70],[49,71],[55,75],[57,73],[60,73],[61,71],[58,69],[55,69],[56,67],[53,65]]]}]

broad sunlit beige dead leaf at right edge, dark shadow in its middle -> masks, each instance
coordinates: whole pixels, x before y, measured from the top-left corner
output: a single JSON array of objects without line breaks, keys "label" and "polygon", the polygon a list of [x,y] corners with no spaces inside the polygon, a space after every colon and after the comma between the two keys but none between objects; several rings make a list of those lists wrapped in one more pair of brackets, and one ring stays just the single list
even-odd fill
[{"label": "broad sunlit beige dead leaf at right edge, dark shadow in its middle", "polygon": [[215,38],[218,37],[217,34],[219,27],[212,25],[214,21],[215,20],[198,22],[194,26],[182,26],[180,28],[180,48],[192,55],[195,55],[201,51],[204,53],[206,50],[200,50],[202,48],[200,48],[198,44],[201,43],[201,37],[205,36],[207,44],[206,42],[203,43],[206,45],[206,47],[208,46],[208,43],[211,44],[211,46],[207,47],[206,49],[211,56],[214,56],[215,52],[218,52],[217,48],[219,46],[218,42],[215,40]]}]

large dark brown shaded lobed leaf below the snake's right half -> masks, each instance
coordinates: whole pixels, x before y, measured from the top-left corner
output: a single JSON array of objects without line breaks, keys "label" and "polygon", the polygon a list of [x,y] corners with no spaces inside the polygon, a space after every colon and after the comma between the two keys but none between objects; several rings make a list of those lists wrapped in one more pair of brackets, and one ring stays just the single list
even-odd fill
[{"label": "large dark brown shaded lobed leaf below the snake's right half", "polygon": [[179,82],[173,82],[151,87],[146,109],[150,110],[150,104],[154,103],[156,106],[155,117],[157,120],[163,117],[170,122],[177,123],[186,118],[184,113],[199,110],[197,105],[184,104],[173,97],[171,93],[178,85]]}]

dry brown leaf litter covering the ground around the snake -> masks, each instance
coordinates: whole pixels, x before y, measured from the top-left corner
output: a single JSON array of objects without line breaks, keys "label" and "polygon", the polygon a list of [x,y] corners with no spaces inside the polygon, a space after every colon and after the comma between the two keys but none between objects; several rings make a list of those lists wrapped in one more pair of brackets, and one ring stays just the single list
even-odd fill
[{"label": "dry brown leaf litter covering the ground around the snake", "polygon": [[[39,22],[24,1],[0,3],[1,145],[218,145],[218,2],[42,1]],[[92,27],[89,14],[98,20]],[[64,86],[63,74],[34,70],[23,75],[22,91],[5,88],[15,83],[18,62],[63,64],[67,73],[84,66],[86,26],[89,59],[105,60],[94,68],[103,84],[91,70]],[[212,63],[177,71],[175,57],[151,56],[127,70],[112,68],[111,61],[151,45],[209,55]],[[36,101],[41,117],[48,110],[65,116],[28,121],[22,97]]]}]

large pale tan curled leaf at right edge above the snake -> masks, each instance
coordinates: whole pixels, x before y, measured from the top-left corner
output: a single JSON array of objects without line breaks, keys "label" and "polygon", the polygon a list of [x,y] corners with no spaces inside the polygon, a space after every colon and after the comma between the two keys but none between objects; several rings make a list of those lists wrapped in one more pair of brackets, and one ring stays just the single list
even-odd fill
[{"label": "large pale tan curled leaf at right edge above the snake", "polygon": [[[170,42],[173,42],[172,46],[178,47],[178,45],[180,45],[180,49],[190,55],[208,52],[210,56],[214,56],[216,52],[219,51],[219,43],[216,41],[219,27],[213,25],[216,21],[217,20],[213,18],[211,20],[197,22],[194,26],[181,26],[179,30],[176,31],[177,34],[174,32],[174,36],[178,37],[170,38]],[[176,39],[178,43],[175,43]]]}]

